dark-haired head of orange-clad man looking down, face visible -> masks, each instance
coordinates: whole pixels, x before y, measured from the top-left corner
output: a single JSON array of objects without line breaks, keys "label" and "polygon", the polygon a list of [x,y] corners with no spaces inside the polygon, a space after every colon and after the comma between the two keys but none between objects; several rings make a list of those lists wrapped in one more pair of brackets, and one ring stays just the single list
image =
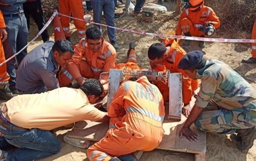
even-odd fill
[{"label": "dark-haired head of orange-clad man looking down, face visible", "polygon": [[101,30],[96,26],[93,26],[86,30],[85,35],[88,47],[93,50],[93,52],[98,52],[103,42]]}]

